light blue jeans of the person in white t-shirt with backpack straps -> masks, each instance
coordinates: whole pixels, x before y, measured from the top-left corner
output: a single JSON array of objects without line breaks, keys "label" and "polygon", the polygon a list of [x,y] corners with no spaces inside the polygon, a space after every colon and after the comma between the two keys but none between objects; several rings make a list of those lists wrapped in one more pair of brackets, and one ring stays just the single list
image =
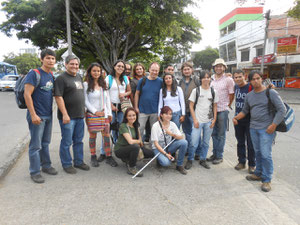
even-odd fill
[{"label": "light blue jeans of the person in white t-shirt with backpack straps", "polygon": [[[188,149],[188,160],[194,160],[195,152],[200,156],[200,160],[205,160],[209,148],[209,140],[213,129],[210,128],[211,122],[199,123],[199,128],[193,126],[191,148]],[[202,138],[201,138],[202,133]],[[200,148],[199,148],[200,146]]]}]

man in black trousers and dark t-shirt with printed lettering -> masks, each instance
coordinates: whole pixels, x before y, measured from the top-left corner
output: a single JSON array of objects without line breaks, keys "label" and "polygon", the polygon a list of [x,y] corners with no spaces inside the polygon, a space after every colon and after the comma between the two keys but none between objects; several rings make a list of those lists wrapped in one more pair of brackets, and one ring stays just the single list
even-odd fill
[{"label": "man in black trousers and dark t-shirt with printed lettering", "polygon": [[[235,82],[235,115],[237,115],[242,111],[246,95],[252,90],[252,86],[250,83],[247,83],[245,74],[242,70],[236,70],[233,73],[233,79]],[[244,169],[248,158],[248,172],[252,174],[255,169],[255,152],[250,137],[250,115],[248,114],[245,118],[241,119],[239,123],[234,126],[234,129],[237,140],[237,156],[239,161],[234,168],[236,170]],[[246,157],[246,140],[248,157]]]}]

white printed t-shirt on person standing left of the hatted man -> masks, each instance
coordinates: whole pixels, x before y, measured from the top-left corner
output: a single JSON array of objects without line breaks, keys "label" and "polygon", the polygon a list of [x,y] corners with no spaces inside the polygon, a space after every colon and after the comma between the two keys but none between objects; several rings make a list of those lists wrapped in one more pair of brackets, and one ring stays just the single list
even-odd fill
[{"label": "white printed t-shirt on person standing left of the hatted man", "polygon": [[[194,88],[194,90],[190,95],[189,100],[191,102],[196,102],[196,91],[197,89]],[[198,120],[199,123],[208,123],[213,119],[214,115],[211,107],[212,101],[213,101],[213,96],[211,94],[211,88],[203,89],[202,87],[200,87],[200,95],[195,109],[196,119]],[[215,91],[214,103],[217,103],[218,101],[219,101],[219,96]]]}]

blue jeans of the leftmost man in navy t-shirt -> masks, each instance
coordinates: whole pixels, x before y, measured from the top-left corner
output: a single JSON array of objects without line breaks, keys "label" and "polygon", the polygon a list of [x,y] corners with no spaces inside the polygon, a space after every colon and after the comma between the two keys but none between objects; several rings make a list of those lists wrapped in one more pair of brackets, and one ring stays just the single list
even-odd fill
[{"label": "blue jeans of the leftmost man in navy t-shirt", "polygon": [[28,151],[30,175],[40,174],[41,166],[45,169],[51,167],[49,144],[52,134],[52,115],[40,116],[40,118],[42,121],[39,125],[33,124],[27,111],[26,119],[31,136]]}]

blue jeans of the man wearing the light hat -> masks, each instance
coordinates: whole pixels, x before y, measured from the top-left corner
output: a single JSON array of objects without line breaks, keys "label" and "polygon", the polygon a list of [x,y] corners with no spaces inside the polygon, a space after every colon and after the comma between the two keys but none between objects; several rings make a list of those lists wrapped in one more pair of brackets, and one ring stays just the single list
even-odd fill
[{"label": "blue jeans of the man wearing the light hat", "polygon": [[223,158],[224,146],[226,140],[226,130],[228,121],[228,111],[218,112],[217,121],[213,129],[213,155],[217,159]]}]

